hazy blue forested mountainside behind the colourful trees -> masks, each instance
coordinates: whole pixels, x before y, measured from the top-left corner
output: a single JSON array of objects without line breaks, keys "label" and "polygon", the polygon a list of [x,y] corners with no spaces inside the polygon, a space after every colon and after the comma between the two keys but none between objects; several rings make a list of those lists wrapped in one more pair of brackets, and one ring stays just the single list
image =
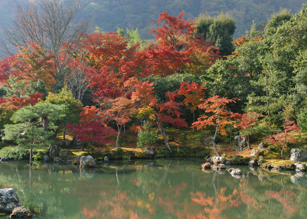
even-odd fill
[{"label": "hazy blue forested mountainside behind the colourful trees", "polygon": [[[14,16],[13,4],[20,0],[0,0],[1,25],[7,25]],[[103,32],[116,31],[117,27],[138,28],[142,39],[153,36],[148,32],[149,23],[156,21],[160,13],[168,11],[171,16],[178,16],[182,10],[186,19],[194,19],[199,14],[218,15],[223,11],[230,14],[236,23],[234,38],[239,38],[256,24],[265,22],[271,14],[281,7],[297,14],[305,3],[304,0],[90,0],[82,2],[84,10],[80,17],[90,14],[95,17],[95,25]],[[0,28],[0,33],[2,28]]]}]

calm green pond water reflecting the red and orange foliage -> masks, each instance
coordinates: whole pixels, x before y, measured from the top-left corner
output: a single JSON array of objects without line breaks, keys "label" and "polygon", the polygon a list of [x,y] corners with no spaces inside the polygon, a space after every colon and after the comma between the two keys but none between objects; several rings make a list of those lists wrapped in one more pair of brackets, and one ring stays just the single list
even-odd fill
[{"label": "calm green pond water reflecting the red and orange foliage", "polygon": [[[305,218],[305,173],[239,166],[203,172],[204,159],[111,161],[77,166],[0,163],[0,188],[13,187],[35,218]],[[1,219],[9,218],[7,215]]]}]

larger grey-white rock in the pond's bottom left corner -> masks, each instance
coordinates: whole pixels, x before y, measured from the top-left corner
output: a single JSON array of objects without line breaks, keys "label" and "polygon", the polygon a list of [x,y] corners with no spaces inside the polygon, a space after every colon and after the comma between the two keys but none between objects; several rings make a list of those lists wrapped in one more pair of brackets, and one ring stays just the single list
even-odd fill
[{"label": "larger grey-white rock in the pond's bottom left corner", "polygon": [[10,214],[14,208],[20,206],[21,204],[13,188],[0,189],[0,213]]}]

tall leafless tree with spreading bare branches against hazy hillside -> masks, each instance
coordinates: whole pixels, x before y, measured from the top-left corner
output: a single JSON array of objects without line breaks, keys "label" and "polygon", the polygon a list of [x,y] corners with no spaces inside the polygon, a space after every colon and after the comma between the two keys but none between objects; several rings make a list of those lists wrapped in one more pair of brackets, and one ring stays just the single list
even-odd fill
[{"label": "tall leafless tree with spreading bare branches against hazy hillside", "polygon": [[3,30],[2,52],[11,55],[6,45],[16,48],[32,41],[55,55],[57,77],[72,54],[80,49],[82,38],[91,31],[91,18],[76,20],[81,9],[80,0],[16,3],[16,15],[10,22],[10,28]]}]

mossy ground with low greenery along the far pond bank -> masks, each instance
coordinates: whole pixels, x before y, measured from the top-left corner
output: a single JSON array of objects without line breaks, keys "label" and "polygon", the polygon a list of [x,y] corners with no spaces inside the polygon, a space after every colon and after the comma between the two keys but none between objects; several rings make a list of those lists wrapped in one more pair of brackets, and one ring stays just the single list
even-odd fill
[{"label": "mossy ground with low greenery along the far pond bank", "polygon": [[[98,160],[102,160],[104,156],[107,156],[109,159],[130,159],[130,158],[148,158],[144,152],[144,148],[147,147],[156,147],[157,156],[156,157],[169,157],[169,156],[182,156],[182,157],[202,157],[208,158],[215,155],[212,145],[208,146],[204,142],[210,139],[214,130],[195,130],[194,132],[190,128],[180,128],[175,127],[164,127],[166,130],[166,135],[168,136],[170,146],[173,148],[173,152],[170,154],[167,148],[165,147],[163,138],[161,135],[158,135],[157,140],[150,145],[145,145],[142,148],[137,147],[138,135],[133,131],[127,130],[125,135],[120,136],[119,148],[115,148],[115,143],[97,146],[95,143],[92,143],[89,146],[87,153],[86,148],[82,151],[81,147],[68,147],[61,148],[62,151],[70,150],[73,154],[77,155],[87,155],[90,154]],[[69,134],[69,133],[68,133]],[[66,135],[66,140],[71,140],[72,137]],[[219,154],[221,156],[226,156],[227,160],[238,159],[239,156],[243,156],[244,162],[250,157],[251,151],[253,148],[258,149],[258,144],[262,141],[262,136],[253,136],[250,138],[251,149],[244,151],[234,151],[236,144],[234,141],[234,135],[230,137],[218,135],[216,138],[216,146],[218,148]],[[281,159],[281,145],[270,145],[268,148],[263,149],[257,156],[261,158],[263,163],[270,163],[276,165],[286,165],[293,164],[294,162],[289,161],[290,151],[292,148],[307,149],[307,134],[302,133],[301,135],[295,135],[296,142],[288,144],[284,156],[285,160]],[[59,133],[56,142],[63,140],[63,133]],[[21,154],[14,155],[14,151],[18,151],[15,148],[14,144],[6,143],[6,147],[0,150],[0,157],[10,157],[13,159],[23,158],[27,159],[29,156],[29,151],[21,150]],[[47,145],[45,148],[34,149],[34,159],[42,159],[47,152]],[[239,155],[239,156],[237,156]],[[19,157],[18,157],[19,156]],[[242,164],[244,164],[242,161]],[[304,163],[304,162],[302,162]],[[305,162],[306,163],[306,162]]]}]

